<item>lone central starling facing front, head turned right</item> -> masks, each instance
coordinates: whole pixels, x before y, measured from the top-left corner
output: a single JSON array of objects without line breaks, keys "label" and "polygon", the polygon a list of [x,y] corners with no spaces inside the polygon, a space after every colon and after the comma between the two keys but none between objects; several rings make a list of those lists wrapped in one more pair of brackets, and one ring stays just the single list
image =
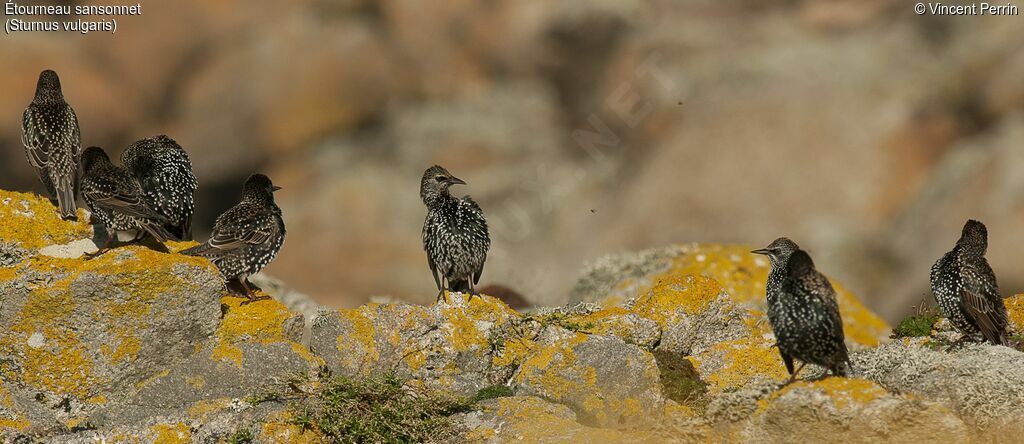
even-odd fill
[{"label": "lone central starling facing front, head turned right", "polygon": [[466,182],[436,165],[423,173],[420,182],[420,197],[427,206],[423,250],[438,300],[447,290],[475,295],[490,248],[483,211],[469,196],[453,197],[449,187],[456,184]]}]

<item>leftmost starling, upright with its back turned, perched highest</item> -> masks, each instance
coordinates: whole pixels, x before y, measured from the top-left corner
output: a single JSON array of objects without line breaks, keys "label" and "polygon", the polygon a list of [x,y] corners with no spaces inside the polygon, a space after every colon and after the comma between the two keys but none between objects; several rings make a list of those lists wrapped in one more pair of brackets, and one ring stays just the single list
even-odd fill
[{"label": "leftmost starling, upright with its back turned, perched highest", "polygon": [[59,207],[60,217],[77,219],[75,198],[82,137],[75,109],[60,91],[60,79],[50,70],[39,74],[36,96],[25,109],[22,142],[50,199]]}]

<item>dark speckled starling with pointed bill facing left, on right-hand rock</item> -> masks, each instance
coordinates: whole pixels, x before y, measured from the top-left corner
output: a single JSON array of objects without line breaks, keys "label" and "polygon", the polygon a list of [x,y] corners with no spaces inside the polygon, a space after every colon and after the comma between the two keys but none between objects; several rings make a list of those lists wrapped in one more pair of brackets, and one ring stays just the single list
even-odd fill
[{"label": "dark speckled starling with pointed bill facing left, on right-hand rock", "polygon": [[[752,253],[768,256],[771,262],[765,284],[768,322],[790,372],[790,382],[796,381],[807,363],[846,376],[845,366],[852,365],[836,291],[814,268],[810,255],[786,237],[779,237]],[[796,369],[794,359],[801,362]]]}]

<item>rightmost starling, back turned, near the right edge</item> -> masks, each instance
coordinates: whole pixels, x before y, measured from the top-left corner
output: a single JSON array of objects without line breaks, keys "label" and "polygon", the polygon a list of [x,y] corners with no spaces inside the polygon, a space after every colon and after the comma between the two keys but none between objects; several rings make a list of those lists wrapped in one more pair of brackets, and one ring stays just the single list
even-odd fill
[{"label": "rightmost starling, back turned, near the right edge", "polygon": [[1007,345],[1007,307],[995,273],[985,260],[988,229],[969,220],[956,247],[932,266],[932,293],[939,311],[969,338],[981,334],[993,345]]}]

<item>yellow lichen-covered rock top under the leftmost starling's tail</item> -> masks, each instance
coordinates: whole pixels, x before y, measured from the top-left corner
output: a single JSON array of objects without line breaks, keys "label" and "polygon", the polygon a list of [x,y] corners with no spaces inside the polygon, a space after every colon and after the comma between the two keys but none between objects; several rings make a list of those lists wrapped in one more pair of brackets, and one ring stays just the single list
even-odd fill
[{"label": "yellow lichen-covered rock top under the leftmost starling's tail", "polygon": [[85,212],[78,210],[78,221],[65,221],[44,197],[0,190],[0,240],[26,250],[90,238],[92,227],[88,219]]}]

